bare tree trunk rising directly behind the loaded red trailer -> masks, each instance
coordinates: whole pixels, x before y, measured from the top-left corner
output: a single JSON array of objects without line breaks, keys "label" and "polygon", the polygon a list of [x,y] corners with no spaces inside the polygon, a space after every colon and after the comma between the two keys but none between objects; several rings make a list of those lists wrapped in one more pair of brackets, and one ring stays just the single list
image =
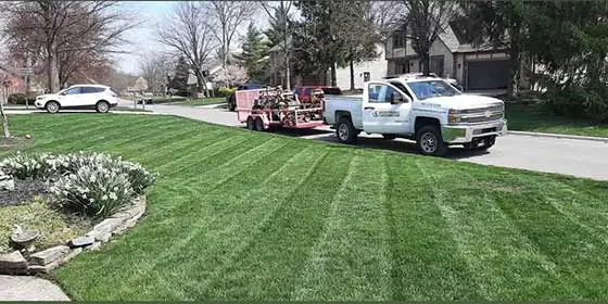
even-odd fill
[{"label": "bare tree trunk rising directly behind the loaded red trailer", "polygon": [[293,35],[293,27],[290,25],[291,9],[293,1],[279,1],[278,5],[270,7],[264,1],[259,1],[262,8],[270,18],[271,23],[276,24],[277,33],[280,36],[280,48],[284,54],[284,68],[286,68],[286,89],[291,90],[291,46],[290,40]]}]

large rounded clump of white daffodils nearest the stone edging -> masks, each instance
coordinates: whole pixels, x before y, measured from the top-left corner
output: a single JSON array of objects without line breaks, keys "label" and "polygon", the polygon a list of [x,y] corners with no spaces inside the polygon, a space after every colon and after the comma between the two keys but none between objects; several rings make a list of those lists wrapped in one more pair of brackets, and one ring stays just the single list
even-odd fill
[{"label": "large rounded clump of white daffodils nearest the stone edging", "polygon": [[134,198],[126,174],[89,166],[61,177],[51,187],[51,193],[54,203],[61,207],[94,218],[118,212]]}]

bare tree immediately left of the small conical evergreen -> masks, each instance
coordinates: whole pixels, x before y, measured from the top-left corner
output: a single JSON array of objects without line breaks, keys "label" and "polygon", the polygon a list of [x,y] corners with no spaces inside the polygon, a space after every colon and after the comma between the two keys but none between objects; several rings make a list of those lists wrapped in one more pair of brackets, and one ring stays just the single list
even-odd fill
[{"label": "bare tree immediately left of the small conical evergreen", "polygon": [[221,66],[228,63],[230,46],[237,30],[253,18],[257,3],[253,1],[201,1],[207,13],[207,25],[214,28],[213,35],[219,42]]}]

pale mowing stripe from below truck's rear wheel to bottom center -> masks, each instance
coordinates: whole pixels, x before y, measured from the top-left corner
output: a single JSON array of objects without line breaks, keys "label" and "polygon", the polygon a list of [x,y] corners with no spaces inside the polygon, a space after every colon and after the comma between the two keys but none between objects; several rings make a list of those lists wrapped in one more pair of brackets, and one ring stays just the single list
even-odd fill
[{"label": "pale mowing stripe from below truck's rear wheel to bottom center", "polygon": [[352,160],[292,300],[391,299],[387,178],[383,154],[357,153]]}]

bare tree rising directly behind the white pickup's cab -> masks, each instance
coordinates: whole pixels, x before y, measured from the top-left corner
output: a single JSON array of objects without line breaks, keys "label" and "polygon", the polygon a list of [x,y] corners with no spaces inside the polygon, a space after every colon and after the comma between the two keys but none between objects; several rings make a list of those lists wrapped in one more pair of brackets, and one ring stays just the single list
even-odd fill
[{"label": "bare tree rising directly behind the white pickup's cab", "polygon": [[411,47],[422,61],[422,73],[430,73],[431,45],[439,38],[456,15],[455,0],[402,0],[405,11],[402,13],[402,25],[406,29],[406,38],[411,39]]}]

